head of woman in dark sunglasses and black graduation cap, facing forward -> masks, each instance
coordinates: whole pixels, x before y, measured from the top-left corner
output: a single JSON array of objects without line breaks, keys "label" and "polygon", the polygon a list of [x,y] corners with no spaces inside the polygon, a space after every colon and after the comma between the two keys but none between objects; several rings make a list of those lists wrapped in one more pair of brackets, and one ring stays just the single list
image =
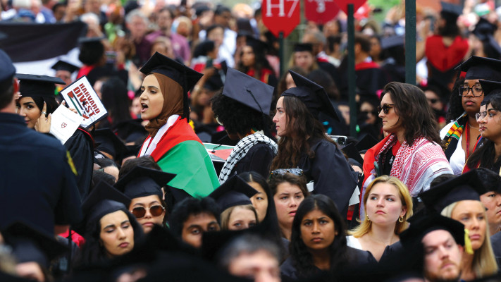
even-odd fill
[{"label": "head of woman in dark sunglasses and black graduation cap, facing forward", "polygon": [[154,225],[165,227],[167,216],[162,187],[174,177],[171,173],[136,166],[115,184],[115,188],[131,199],[129,211],[144,233],[149,233]]}]

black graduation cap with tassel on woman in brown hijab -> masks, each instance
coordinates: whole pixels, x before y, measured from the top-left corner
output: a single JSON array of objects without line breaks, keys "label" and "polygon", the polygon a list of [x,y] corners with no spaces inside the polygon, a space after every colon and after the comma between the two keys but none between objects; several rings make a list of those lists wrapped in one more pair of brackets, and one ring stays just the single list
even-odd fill
[{"label": "black graduation cap with tassel on woman in brown hijab", "polygon": [[159,52],[155,52],[151,58],[142,66],[140,72],[159,73],[166,75],[183,87],[183,118],[189,118],[190,108],[188,106],[188,90],[197,84],[198,80],[204,76],[202,73],[192,70],[187,66],[174,61]]}]

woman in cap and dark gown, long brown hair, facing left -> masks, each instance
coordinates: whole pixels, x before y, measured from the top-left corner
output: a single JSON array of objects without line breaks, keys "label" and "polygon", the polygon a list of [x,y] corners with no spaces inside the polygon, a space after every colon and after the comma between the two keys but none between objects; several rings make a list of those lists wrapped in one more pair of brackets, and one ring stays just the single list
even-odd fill
[{"label": "woman in cap and dark gown, long brown hair, facing left", "polygon": [[336,143],[326,135],[318,121],[321,112],[340,121],[326,91],[320,85],[289,71],[296,87],[285,90],[276,105],[278,154],[271,170],[301,168],[314,194],[327,195],[341,214],[347,214],[348,203],[358,179]]}]

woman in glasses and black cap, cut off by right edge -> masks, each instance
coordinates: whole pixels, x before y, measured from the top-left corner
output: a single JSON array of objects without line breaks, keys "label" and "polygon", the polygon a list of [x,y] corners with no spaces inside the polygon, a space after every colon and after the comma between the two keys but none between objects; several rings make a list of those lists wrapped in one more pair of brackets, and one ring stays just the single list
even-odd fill
[{"label": "woman in glasses and black cap, cut off by right edge", "polygon": [[501,170],[501,82],[480,80],[488,104],[481,112],[478,123],[483,145],[475,150],[466,161],[464,171],[483,167],[495,173]]}]

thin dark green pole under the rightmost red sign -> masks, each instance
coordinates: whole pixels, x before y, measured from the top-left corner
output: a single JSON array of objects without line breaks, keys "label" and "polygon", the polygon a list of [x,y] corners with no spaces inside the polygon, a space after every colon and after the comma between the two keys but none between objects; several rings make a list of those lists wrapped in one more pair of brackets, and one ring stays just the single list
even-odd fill
[{"label": "thin dark green pole under the rightmost red sign", "polygon": [[350,97],[350,135],[357,137],[357,103],[355,102],[355,25],[354,7],[348,4],[348,96]]}]

